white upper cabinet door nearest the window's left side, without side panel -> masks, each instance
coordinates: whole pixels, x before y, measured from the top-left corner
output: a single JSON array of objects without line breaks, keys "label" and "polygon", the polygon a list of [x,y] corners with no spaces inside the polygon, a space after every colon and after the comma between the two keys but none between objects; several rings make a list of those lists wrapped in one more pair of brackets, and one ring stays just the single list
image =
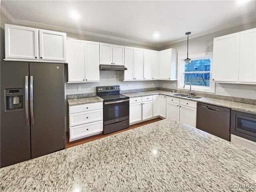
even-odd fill
[{"label": "white upper cabinet door nearest the window's left side, without side panel", "polygon": [[160,51],[160,79],[170,80],[171,77],[171,50]]}]

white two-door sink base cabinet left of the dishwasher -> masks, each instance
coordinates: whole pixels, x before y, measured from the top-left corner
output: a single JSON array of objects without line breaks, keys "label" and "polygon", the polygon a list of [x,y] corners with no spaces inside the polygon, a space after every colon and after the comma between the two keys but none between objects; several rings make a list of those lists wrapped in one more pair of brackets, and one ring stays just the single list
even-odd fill
[{"label": "white two-door sink base cabinet left of the dishwasher", "polygon": [[166,118],[196,127],[196,101],[167,97]]}]

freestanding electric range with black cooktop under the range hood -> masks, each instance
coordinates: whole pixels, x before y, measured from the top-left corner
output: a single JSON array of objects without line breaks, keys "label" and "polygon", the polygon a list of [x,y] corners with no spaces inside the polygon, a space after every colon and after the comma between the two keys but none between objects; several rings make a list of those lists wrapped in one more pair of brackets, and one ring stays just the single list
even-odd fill
[{"label": "freestanding electric range with black cooktop under the range hood", "polygon": [[130,99],[120,94],[120,86],[97,87],[97,96],[103,101],[103,134],[129,127]]}]

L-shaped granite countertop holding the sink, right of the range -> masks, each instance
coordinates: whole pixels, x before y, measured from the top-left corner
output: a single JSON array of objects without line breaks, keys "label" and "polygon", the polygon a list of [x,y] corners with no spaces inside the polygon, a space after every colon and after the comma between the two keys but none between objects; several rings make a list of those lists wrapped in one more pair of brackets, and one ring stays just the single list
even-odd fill
[{"label": "L-shaped granite countertop holding the sink, right of the range", "polygon": [[256,105],[251,105],[251,104],[246,104],[246,103],[238,103],[238,102],[234,102],[234,101],[225,101],[225,100],[221,100],[221,99],[212,99],[212,98],[207,98],[207,97],[202,97],[200,99],[190,99],[190,98],[175,96],[175,95],[173,95],[174,93],[169,92],[169,91],[160,91],[160,90],[159,91],[143,91],[143,92],[136,92],[136,93],[125,93],[123,95],[127,95],[130,98],[132,98],[132,97],[143,97],[143,96],[158,95],[158,94],[171,96],[171,97],[178,97],[180,99],[199,101],[199,102],[208,103],[211,105],[228,107],[228,108],[239,110],[239,111],[247,111],[250,113],[256,113]]}]

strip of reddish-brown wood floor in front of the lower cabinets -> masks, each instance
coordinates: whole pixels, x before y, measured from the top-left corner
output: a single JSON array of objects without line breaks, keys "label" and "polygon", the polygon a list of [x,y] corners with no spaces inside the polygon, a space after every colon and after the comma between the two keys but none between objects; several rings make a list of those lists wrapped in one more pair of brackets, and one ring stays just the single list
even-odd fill
[{"label": "strip of reddish-brown wood floor in front of the lower cabinets", "polygon": [[121,133],[123,131],[127,131],[127,130],[130,130],[130,129],[134,129],[136,127],[140,127],[142,125],[148,125],[150,123],[154,123],[156,121],[160,121],[162,120],[161,118],[156,118],[156,119],[150,119],[148,121],[143,121],[143,122],[140,122],[140,123],[137,123],[137,124],[134,124],[134,125],[131,125],[129,128],[127,129],[123,129],[123,130],[120,130],[120,131],[116,131],[114,133],[110,133],[108,135],[103,135],[103,134],[98,134],[98,135],[93,135],[91,137],[86,137],[84,139],[79,139],[79,140],[76,140],[76,141],[72,141],[72,142],[69,142],[69,132],[66,132],[66,148],[70,148],[72,146],[76,146],[76,145],[79,145],[79,144],[83,144],[83,143],[87,143],[87,142],[90,142],[90,141],[94,141],[96,139],[100,139],[100,138],[103,138],[103,137],[108,137],[110,135],[114,135],[116,133]]}]

